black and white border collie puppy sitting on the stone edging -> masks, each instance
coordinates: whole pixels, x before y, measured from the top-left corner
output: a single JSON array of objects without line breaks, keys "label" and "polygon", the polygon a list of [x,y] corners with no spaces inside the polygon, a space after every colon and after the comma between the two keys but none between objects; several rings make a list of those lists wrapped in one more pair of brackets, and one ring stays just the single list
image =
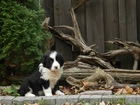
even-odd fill
[{"label": "black and white border collie puppy sitting on the stone edging", "polygon": [[59,90],[58,80],[63,72],[64,59],[56,51],[45,54],[40,61],[39,69],[27,77],[18,90],[21,96],[64,95]]}]

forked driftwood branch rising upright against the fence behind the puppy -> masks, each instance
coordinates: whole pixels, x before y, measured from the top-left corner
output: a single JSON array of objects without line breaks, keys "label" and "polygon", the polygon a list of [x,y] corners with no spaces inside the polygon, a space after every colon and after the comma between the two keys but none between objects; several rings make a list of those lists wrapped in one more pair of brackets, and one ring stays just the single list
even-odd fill
[{"label": "forked driftwood branch rising upright against the fence behind the puppy", "polygon": [[62,31],[57,30],[53,27],[49,27],[50,31],[54,34],[57,34],[56,37],[59,37],[60,39],[65,40],[66,42],[69,41],[70,43],[78,47],[83,54],[95,55],[96,51],[90,48],[89,46],[87,46],[84,39],[82,38],[73,8],[71,9],[70,14],[72,17],[73,27],[66,26],[66,25],[55,26],[55,27],[71,30],[74,33],[74,35],[68,35],[68,34],[66,35]]}]

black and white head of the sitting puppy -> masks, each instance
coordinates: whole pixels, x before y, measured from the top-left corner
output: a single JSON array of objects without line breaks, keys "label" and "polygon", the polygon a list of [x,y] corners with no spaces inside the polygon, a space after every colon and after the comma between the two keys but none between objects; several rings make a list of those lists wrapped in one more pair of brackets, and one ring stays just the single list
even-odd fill
[{"label": "black and white head of the sitting puppy", "polygon": [[58,52],[50,51],[41,58],[40,62],[43,64],[43,67],[49,70],[58,70],[63,66],[64,59]]}]

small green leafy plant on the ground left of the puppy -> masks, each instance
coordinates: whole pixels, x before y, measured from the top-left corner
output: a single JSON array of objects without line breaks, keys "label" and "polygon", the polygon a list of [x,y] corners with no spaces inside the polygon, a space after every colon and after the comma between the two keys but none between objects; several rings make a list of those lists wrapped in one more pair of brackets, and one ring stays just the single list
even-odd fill
[{"label": "small green leafy plant on the ground left of the puppy", "polygon": [[10,87],[5,88],[3,92],[12,96],[19,96],[17,89],[13,84]]}]

